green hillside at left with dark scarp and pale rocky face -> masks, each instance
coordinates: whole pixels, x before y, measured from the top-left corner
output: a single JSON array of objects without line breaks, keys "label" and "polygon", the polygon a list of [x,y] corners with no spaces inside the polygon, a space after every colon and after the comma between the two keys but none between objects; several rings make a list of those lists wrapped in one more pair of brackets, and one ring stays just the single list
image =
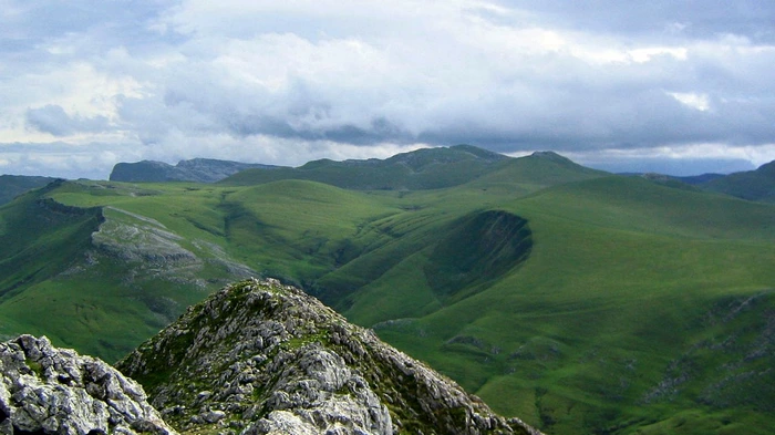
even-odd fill
[{"label": "green hillside at left with dark scarp and pale rocky face", "polygon": [[[46,334],[115,361],[189,304],[251,275],[206,231],[183,232],[190,226],[184,219],[166,219],[175,224],[167,227],[148,217],[176,213],[175,201],[159,196],[61,182],[0,208],[0,334]],[[125,204],[133,198],[142,198],[137,207]],[[187,207],[186,199],[178,204]]]}]

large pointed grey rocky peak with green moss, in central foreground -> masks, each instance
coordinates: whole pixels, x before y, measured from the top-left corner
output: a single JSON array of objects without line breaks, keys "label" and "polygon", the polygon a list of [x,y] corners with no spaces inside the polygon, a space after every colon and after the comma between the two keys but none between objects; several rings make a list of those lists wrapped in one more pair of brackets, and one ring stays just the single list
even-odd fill
[{"label": "large pointed grey rocky peak with green moss, in central foreground", "polygon": [[538,434],[273,280],[219,291],[118,367],[183,432]]}]

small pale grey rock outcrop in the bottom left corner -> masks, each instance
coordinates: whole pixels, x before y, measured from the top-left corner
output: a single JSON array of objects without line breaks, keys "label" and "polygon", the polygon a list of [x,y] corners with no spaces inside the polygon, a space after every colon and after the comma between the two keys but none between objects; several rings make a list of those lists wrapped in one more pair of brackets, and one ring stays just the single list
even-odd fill
[{"label": "small pale grey rock outcrop in the bottom left corner", "polygon": [[3,435],[175,434],[136,382],[45,338],[0,343],[0,376]]}]

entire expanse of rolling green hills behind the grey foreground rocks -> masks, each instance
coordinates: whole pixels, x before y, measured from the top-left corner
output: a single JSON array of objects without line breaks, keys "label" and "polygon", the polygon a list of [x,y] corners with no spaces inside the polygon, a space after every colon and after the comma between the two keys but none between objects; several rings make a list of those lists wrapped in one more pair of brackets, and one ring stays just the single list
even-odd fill
[{"label": "entire expanse of rolling green hills behind the grey foreground rocks", "polygon": [[[114,360],[252,270],[548,433],[775,424],[771,204],[472,147],[218,185],[65,183],[25,198],[0,209],[3,237],[45,198],[101,207],[107,236],[95,246],[85,227],[24,235],[70,240],[51,256],[72,263],[29,260],[4,279],[2,332],[44,332]],[[148,249],[120,249],[130,234]]]}]

